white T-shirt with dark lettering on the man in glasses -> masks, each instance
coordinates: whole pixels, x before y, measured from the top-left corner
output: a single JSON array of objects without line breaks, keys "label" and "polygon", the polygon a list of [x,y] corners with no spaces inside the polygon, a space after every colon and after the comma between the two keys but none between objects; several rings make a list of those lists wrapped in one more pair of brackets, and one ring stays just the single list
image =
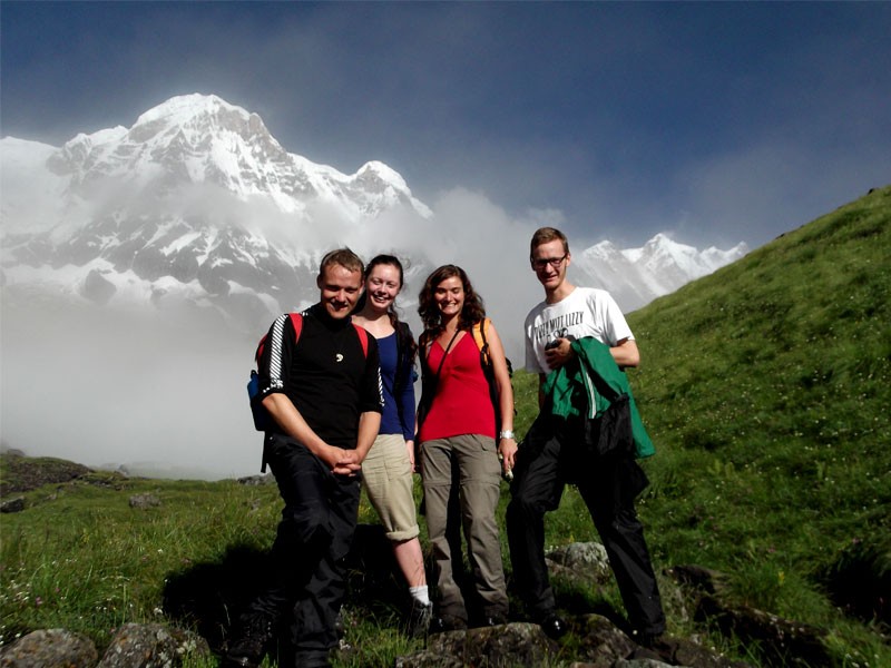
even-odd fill
[{"label": "white T-shirt with dark lettering on the man in glasses", "polygon": [[615,346],[624,338],[634,338],[616,301],[605,289],[576,287],[556,304],[541,302],[526,316],[526,370],[549,373],[545,345],[555,338],[593,336]]}]

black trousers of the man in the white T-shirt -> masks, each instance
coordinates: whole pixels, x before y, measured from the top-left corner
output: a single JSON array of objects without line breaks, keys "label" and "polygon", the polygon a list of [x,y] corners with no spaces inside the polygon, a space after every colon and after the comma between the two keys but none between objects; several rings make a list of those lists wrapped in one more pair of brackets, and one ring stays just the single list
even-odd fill
[{"label": "black trousers of the man in the white T-shirt", "polygon": [[635,498],[648,484],[628,453],[588,454],[581,430],[539,415],[517,454],[507,509],[516,586],[530,612],[542,618],[556,601],[545,562],[545,513],[557,510],[567,483],[578,485],[609,557],[631,628],[665,630],[656,576]]}]

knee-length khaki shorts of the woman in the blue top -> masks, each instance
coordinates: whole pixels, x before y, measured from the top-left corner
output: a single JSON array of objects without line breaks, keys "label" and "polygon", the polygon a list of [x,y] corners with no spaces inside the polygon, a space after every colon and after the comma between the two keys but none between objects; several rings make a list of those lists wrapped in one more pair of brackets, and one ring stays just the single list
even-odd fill
[{"label": "knee-length khaki shorts of the woman in the blue top", "polygon": [[362,478],[386,538],[395,542],[415,538],[420,529],[411,461],[402,434],[380,434],[374,440],[362,462]]}]

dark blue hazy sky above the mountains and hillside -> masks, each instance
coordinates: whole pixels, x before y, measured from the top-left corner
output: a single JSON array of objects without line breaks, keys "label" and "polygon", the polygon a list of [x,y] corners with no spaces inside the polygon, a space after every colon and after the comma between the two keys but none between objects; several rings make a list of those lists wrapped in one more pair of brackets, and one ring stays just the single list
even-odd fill
[{"label": "dark blue hazy sky above the mountains and hillside", "polygon": [[216,94],[291,153],[584,245],[756,247],[891,183],[889,2],[2,2],[0,27],[3,136]]}]

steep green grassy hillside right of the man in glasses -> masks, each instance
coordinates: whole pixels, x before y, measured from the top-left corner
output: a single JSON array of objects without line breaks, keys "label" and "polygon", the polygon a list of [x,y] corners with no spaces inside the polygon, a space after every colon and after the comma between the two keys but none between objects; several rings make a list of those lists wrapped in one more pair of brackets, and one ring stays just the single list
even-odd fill
[{"label": "steep green grassy hillside right of the man in glasses", "polygon": [[834,627],[840,645],[859,629],[836,606],[888,625],[891,188],[629,321],[658,445],[645,499],[657,560],[726,571],[741,600]]}]

